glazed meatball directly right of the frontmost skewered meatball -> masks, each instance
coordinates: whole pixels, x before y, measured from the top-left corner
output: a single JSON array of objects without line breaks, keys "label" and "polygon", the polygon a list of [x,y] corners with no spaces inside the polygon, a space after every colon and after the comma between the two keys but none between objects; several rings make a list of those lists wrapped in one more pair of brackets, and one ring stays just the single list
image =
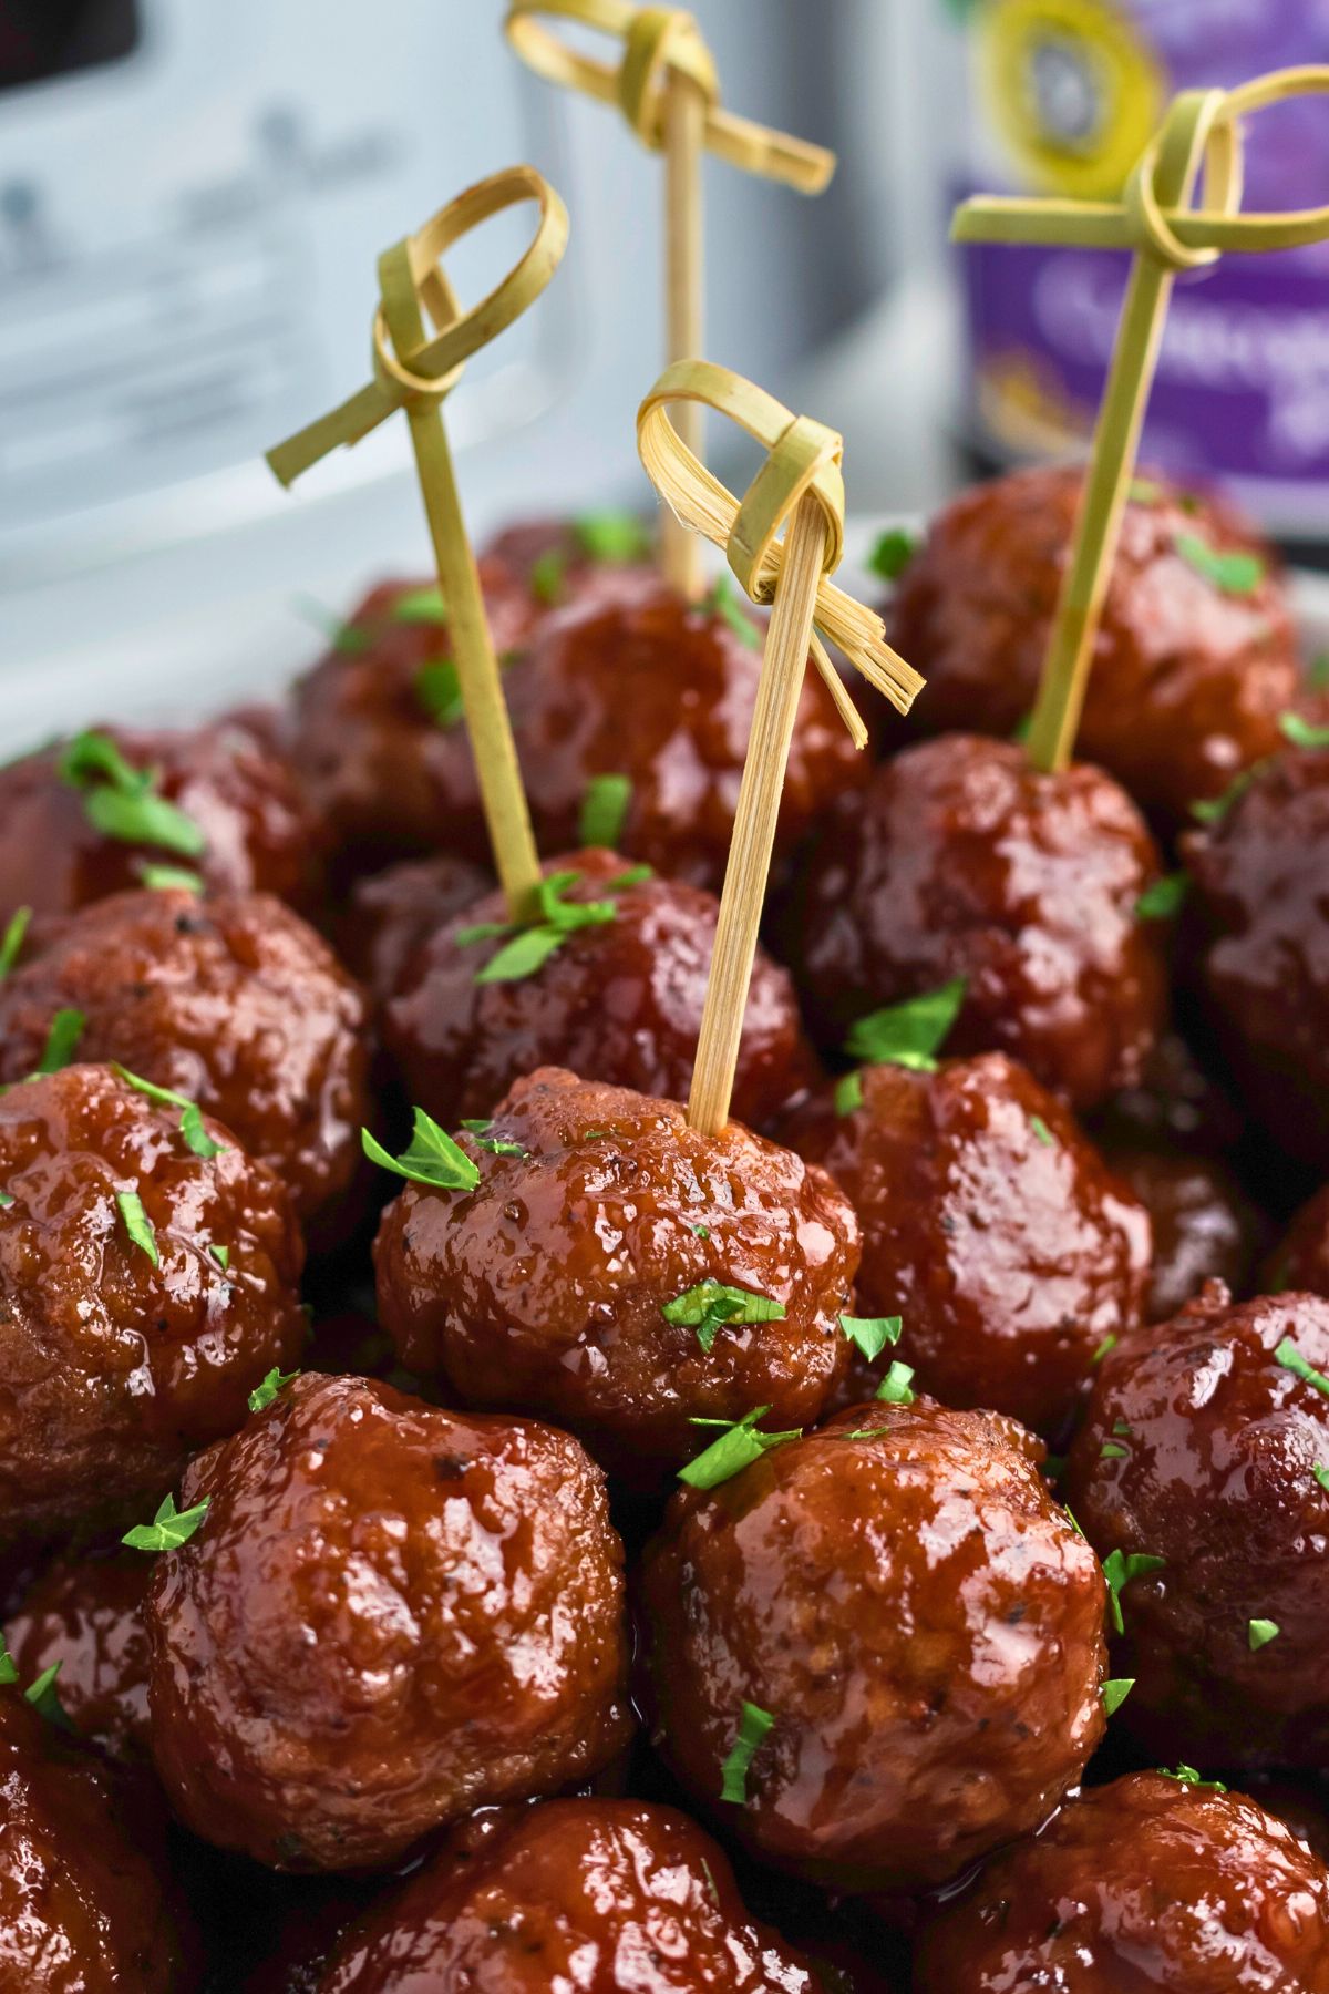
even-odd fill
[{"label": "glazed meatball directly right of the frontmost skewered meatball", "polygon": [[819,1093],[785,1139],[859,1214],[859,1312],[903,1318],[899,1348],[857,1362],[851,1392],[869,1398],[907,1358],[948,1406],[1058,1436],[1104,1340],[1140,1322],[1146,1210],[1004,1053],[863,1067],[859,1105],[841,1115],[839,1099]]}]

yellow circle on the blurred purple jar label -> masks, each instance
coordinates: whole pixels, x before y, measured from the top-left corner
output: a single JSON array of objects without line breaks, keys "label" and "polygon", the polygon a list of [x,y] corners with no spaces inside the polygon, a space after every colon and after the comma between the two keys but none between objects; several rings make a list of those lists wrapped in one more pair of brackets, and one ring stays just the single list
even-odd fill
[{"label": "yellow circle on the blurred purple jar label", "polygon": [[1036,191],[1112,199],[1158,130],[1164,74],[1112,0],[982,0],[978,82]]}]

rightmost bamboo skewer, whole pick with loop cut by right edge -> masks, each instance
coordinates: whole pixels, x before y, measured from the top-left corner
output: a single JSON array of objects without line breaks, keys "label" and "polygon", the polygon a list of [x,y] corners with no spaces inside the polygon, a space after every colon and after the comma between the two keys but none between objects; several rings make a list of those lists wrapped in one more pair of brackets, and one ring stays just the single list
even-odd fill
[{"label": "rightmost bamboo skewer, whole pick with loop cut by right edge", "polygon": [[[1307,66],[1255,78],[1233,92],[1182,92],[1132,171],[1120,203],[978,197],[956,209],[956,241],[1134,249],[1030,720],[1028,756],[1034,768],[1062,770],[1074,752],[1178,273],[1215,263],[1223,249],[1289,249],[1329,237],[1329,209],[1323,207],[1289,215],[1241,213],[1239,120],[1283,98],[1327,90],[1329,68]],[[1192,211],[1201,166],[1203,207]]]}]

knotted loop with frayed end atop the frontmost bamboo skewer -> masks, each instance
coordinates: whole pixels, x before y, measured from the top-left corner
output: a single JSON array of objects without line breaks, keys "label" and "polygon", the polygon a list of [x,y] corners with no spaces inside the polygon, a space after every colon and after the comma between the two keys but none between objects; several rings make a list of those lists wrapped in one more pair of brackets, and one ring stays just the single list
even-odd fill
[{"label": "knotted loop with frayed end atop the frontmost bamboo skewer", "polygon": [[[767,449],[761,471],[743,498],[719,483],[687,449],[669,421],[671,403],[699,401],[745,429]],[[825,540],[813,630],[813,662],[859,748],[867,742],[863,720],[831,664],[825,642],[835,644],[863,678],[907,714],[923,678],[887,644],[881,616],[831,580],[845,552],[843,439],[807,415],[793,415],[753,381],[711,361],[675,361],[656,381],[638,409],[638,453],[669,510],[715,546],[753,602],[773,602],[785,544],[781,526],[801,498],[821,506]]]}]

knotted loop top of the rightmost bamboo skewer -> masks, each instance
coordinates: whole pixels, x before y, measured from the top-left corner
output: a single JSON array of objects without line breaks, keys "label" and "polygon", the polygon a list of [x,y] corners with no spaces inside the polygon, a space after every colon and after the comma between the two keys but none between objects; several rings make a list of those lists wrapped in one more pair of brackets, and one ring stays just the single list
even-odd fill
[{"label": "knotted loop top of the rightmost bamboo skewer", "polygon": [[[1184,90],[1136,162],[1120,201],[976,195],[954,213],[954,241],[1074,243],[1134,249],[1170,271],[1201,269],[1227,249],[1299,249],[1329,237],[1329,207],[1241,213],[1243,132],[1251,112],[1329,92],[1329,66],[1273,70],[1237,90]],[[1178,164],[1203,164],[1199,205],[1164,201]]]}]

